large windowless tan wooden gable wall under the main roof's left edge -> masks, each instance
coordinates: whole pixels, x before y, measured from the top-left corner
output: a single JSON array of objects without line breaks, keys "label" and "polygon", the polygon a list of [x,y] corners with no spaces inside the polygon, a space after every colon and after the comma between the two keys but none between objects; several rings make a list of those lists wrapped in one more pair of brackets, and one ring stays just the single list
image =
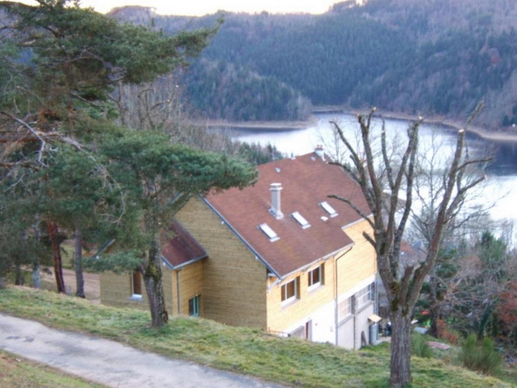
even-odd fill
[{"label": "large windowless tan wooden gable wall under the main roof's left edge", "polygon": [[203,260],[204,318],[266,329],[266,267],[199,198],[176,219],[208,252]]}]

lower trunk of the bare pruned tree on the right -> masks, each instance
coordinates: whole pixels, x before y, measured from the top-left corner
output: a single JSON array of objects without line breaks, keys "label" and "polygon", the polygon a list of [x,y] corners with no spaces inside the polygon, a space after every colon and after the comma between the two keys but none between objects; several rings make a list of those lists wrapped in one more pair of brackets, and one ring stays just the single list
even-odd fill
[{"label": "lower trunk of the bare pruned tree on the right", "polygon": [[392,311],[390,382],[392,386],[404,387],[411,382],[409,362],[411,359],[411,316],[402,311]]}]

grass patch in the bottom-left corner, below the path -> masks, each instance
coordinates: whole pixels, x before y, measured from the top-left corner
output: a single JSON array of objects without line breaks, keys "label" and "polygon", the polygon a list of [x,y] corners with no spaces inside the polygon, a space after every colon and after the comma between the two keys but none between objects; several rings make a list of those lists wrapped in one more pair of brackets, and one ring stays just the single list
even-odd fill
[{"label": "grass patch in the bottom-left corner, below the path", "polygon": [[1,388],[101,388],[101,386],[0,350]]}]

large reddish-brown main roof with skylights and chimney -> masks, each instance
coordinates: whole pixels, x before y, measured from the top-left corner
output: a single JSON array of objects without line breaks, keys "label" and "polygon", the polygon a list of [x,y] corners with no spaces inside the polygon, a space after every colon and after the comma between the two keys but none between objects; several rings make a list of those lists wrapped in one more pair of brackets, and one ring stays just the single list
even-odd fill
[{"label": "large reddish-brown main roof with skylights and chimney", "polygon": [[[342,228],[360,217],[349,205],[329,199],[328,195],[349,198],[361,211],[371,213],[352,178],[313,153],[269,162],[258,166],[258,171],[258,181],[253,187],[210,193],[206,200],[271,270],[282,277],[353,243]],[[282,184],[282,219],[269,212],[271,183]],[[319,205],[323,201],[338,216],[330,217]],[[311,227],[302,229],[292,217],[293,212],[299,212]],[[328,219],[323,221],[322,216]],[[267,223],[280,239],[271,242],[258,229],[262,223]]]}]

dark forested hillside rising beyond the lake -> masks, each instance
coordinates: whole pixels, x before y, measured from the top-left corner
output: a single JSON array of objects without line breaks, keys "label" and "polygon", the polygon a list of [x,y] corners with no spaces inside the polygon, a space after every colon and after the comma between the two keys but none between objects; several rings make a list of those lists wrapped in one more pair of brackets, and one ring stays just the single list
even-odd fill
[{"label": "dark forested hillside rising beyond the lake", "polygon": [[[114,16],[165,33],[214,25],[217,16],[165,17],[127,7]],[[517,2],[370,0],[322,15],[228,13],[187,73],[201,113],[232,120],[304,118],[313,105],[517,122]],[[303,97],[302,97],[303,96]]]}]

